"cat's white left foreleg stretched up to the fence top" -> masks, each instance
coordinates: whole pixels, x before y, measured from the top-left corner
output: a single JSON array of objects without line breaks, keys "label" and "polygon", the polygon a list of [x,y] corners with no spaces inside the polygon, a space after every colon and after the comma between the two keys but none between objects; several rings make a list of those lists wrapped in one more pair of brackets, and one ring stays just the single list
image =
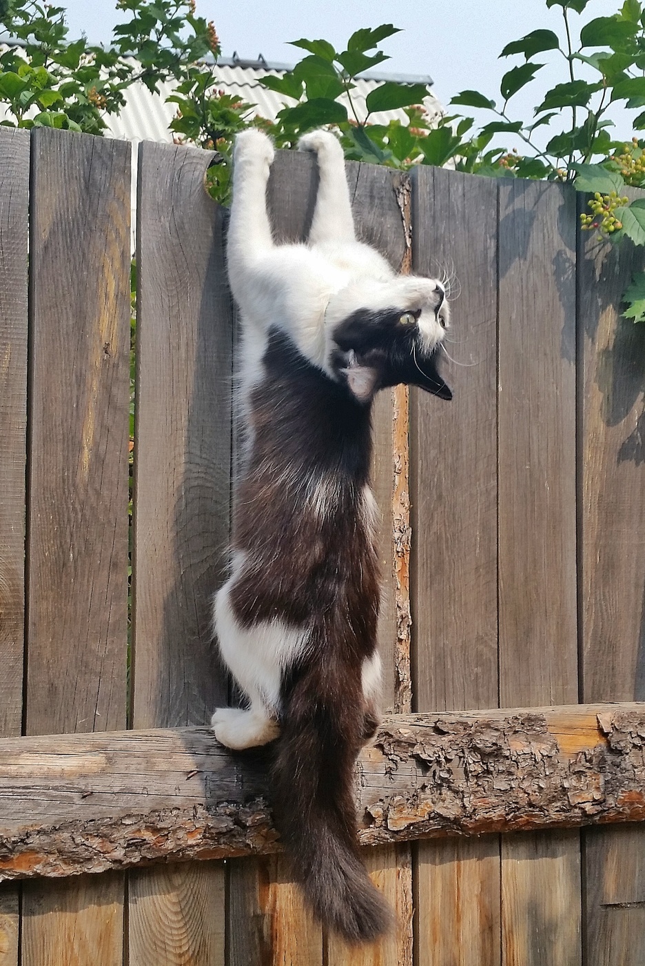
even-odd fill
[{"label": "cat's white left foreleg stretched up to the fence top", "polygon": [[235,138],[233,200],[228,222],[228,274],[243,284],[244,272],[274,248],[266,207],[266,184],[274,147],[262,131],[249,128]]}]

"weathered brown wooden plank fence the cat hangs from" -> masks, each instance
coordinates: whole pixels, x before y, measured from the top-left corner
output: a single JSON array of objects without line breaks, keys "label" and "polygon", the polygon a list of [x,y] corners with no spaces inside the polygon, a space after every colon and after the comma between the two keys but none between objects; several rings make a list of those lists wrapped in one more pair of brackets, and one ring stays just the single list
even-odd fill
[{"label": "weathered brown wooden plank fence the cat hangs from", "polygon": [[[9,739],[0,741],[0,868],[13,863],[13,873],[35,867],[28,837],[19,861],[8,855],[3,823],[30,762],[24,824],[45,833],[38,803],[54,780],[69,815],[96,794],[94,843],[109,809],[92,776],[112,768],[110,808],[125,797],[127,781],[108,762],[117,736],[36,736],[204,725],[228,698],[208,599],[228,538],[235,319],[225,216],[203,189],[210,159],[139,149],[128,531],[130,146],[0,129],[0,735]],[[636,717],[621,731],[603,709],[573,707],[645,700],[645,327],[619,318],[642,252],[619,256],[578,232],[576,198],[557,185],[358,164],[348,177],[364,239],[402,270],[454,272],[459,289],[447,344],[463,363],[451,366],[453,402],[397,389],[376,410],[388,709],[431,712],[418,726],[454,732],[457,747],[466,719],[438,712],[477,719],[478,709],[569,706],[556,752],[569,761],[562,808],[578,817],[564,824],[595,820],[610,793],[605,820],[643,818],[642,784],[609,788],[617,756],[629,751],[634,774],[643,764],[642,711],[622,709]],[[285,239],[304,236],[315,179],[309,156],[278,157],[269,193]],[[535,725],[544,738],[562,713],[547,713],[542,731],[535,716],[529,727],[497,715],[524,736],[509,745],[519,772],[506,787],[500,780],[501,799],[522,790],[524,760],[548,757],[542,738],[526,734]],[[493,719],[482,719],[480,762]],[[400,736],[402,719],[391,722]],[[607,744],[601,732],[614,725],[620,740]],[[155,732],[154,747],[216,748],[190,734],[192,751],[184,732]],[[152,749],[142,742],[128,747]],[[131,767],[143,774],[141,760]],[[583,765],[591,791],[572,791]],[[66,779],[79,767],[83,787]],[[441,803],[433,809],[441,817]],[[121,867],[108,849],[100,874],[2,883],[0,966],[645,962],[645,827],[636,823],[386,837],[364,851],[398,925],[361,951],[310,919],[280,853],[145,867],[146,835],[154,838],[137,827]],[[59,863],[56,874],[65,871]]]}]

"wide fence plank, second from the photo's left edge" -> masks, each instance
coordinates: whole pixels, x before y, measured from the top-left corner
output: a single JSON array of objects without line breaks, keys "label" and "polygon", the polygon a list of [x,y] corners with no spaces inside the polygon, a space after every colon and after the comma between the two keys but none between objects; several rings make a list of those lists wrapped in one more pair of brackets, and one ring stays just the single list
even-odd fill
[{"label": "wide fence plank, second from the photo's left edge", "polygon": [[[29,734],[125,725],[130,146],[33,131]],[[121,874],[29,883],[23,966],[122,960]]]}]

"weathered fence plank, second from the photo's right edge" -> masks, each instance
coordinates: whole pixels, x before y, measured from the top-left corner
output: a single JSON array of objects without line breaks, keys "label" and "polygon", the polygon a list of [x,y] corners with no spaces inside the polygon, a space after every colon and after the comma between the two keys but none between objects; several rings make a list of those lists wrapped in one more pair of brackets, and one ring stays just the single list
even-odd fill
[{"label": "weathered fence plank, second from the photo's right edge", "polygon": [[[499,192],[500,703],[575,703],[576,202],[534,182]],[[576,832],[502,839],[505,966],[578,966],[579,862]]]}]

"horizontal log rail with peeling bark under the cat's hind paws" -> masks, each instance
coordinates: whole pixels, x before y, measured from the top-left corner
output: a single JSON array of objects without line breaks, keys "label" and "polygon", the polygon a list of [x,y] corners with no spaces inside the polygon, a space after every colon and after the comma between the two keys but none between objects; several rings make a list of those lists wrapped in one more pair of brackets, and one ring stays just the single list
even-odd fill
[{"label": "horizontal log rail with peeling bark under the cat's hind paws", "polygon": [[[0,740],[0,879],[280,848],[268,752],[206,728]],[[645,703],[396,715],[357,765],[361,841],[645,819]]]}]

